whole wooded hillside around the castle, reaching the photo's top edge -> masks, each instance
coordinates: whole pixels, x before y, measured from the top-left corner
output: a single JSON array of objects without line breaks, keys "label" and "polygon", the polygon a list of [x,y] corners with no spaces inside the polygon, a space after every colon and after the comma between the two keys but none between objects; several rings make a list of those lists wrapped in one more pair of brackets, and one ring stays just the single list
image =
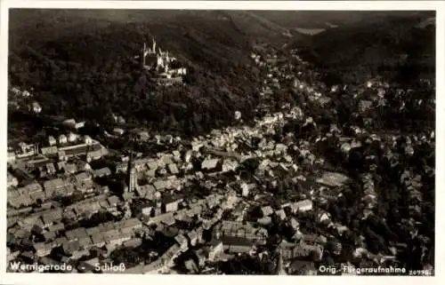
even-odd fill
[{"label": "whole wooded hillside around the castle, reaching the photo's top edge", "polygon": [[[232,121],[236,109],[247,119],[259,80],[248,66],[251,45],[287,36],[277,25],[255,28],[255,18],[233,15],[12,11],[11,83],[34,88],[44,112],[99,123],[117,114],[135,124],[194,133]],[[152,36],[189,67],[185,87],[155,89],[150,75],[134,66],[134,55]]]}]

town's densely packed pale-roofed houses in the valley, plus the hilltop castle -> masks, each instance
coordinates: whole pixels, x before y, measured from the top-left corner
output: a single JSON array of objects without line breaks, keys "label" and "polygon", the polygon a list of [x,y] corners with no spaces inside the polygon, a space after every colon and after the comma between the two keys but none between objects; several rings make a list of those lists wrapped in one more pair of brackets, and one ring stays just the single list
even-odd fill
[{"label": "town's densely packed pale-roofed houses in the valley, plus the hilltop castle", "polygon": [[[293,85],[320,109],[348,88],[318,82],[299,50],[290,57],[267,45],[252,51],[252,64],[264,74],[258,88],[263,103],[252,125],[234,110],[233,126],[187,139],[125,129],[125,118],[116,115],[116,128],[107,136],[131,145],[124,150],[82,134],[85,122],[61,118],[47,126],[53,131],[42,141],[10,141],[8,263],[69,264],[72,273],[214,274],[235,260],[255,260],[267,273],[320,274],[316,264],[327,256],[340,260],[348,248],[352,256],[341,259],[348,268],[400,265],[408,241],[371,249],[370,243],[384,241],[369,240],[337,218],[338,206],[332,205],[350,199],[352,178],[329,165],[314,146],[327,144],[344,158],[360,147],[376,147],[395,168],[420,147],[433,146],[434,132],[402,135],[334,123],[314,132],[318,119],[303,107],[284,104],[271,111],[282,85]],[[182,82],[186,74],[183,67],[169,68],[173,61],[168,52],[157,52],[154,40],[151,48],[144,45],[142,67],[158,72],[162,84]],[[357,112],[384,107],[391,89],[382,79],[364,82],[351,91]],[[400,98],[409,92],[397,90]],[[11,86],[9,103],[31,115],[44,114],[32,90]],[[289,130],[295,124],[311,135],[295,136]],[[141,145],[158,151],[138,151]],[[360,174],[364,191],[351,199],[360,201],[361,220],[384,225],[376,218],[381,192],[375,186],[375,156],[366,156],[371,166]],[[409,217],[401,219],[401,227],[409,240],[427,244],[428,238],[417,234],[423,226],[422,175],[427,174],[406,169],[400,178],[409,195]],[[109,264],[124,264],[125,271],[109,272]]]}]

